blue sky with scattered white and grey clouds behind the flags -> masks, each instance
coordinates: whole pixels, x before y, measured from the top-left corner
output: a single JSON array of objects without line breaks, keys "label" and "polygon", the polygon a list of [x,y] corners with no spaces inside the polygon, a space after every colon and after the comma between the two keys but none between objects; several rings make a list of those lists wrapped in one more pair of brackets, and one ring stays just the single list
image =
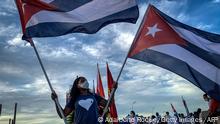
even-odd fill
[{"label": "blue sky with scattered white and grey clouds behind the flags", "polygon": [[[105,63],[109,63],[116,78],[149,3],[183,23],[220,34],[220,0],[138,0],[137,24],[111,24],[93,35],[75,33],[34,39],[62,106],[65,93],[77,75],[85,76],[92,87],[97,63],[107,93]],[[18,102],[17,124],[60,124],[62,120],[56,114],[33,48],[21,36],[14,1],[4,0],[0,5],[0,103],[3,104],[0,123],[8,123],[13,116],[14,102]],[[178,112],[185,113],[181,96],[190,111],[198,107],[205,110],[207,103],[202,94],[200,89],[172,72],[129,59],[115,99],[122,117],[129,113],[134,101],[134,110],[139,114],[157,111],[163,114],[171,111],[170,103]]]}]

